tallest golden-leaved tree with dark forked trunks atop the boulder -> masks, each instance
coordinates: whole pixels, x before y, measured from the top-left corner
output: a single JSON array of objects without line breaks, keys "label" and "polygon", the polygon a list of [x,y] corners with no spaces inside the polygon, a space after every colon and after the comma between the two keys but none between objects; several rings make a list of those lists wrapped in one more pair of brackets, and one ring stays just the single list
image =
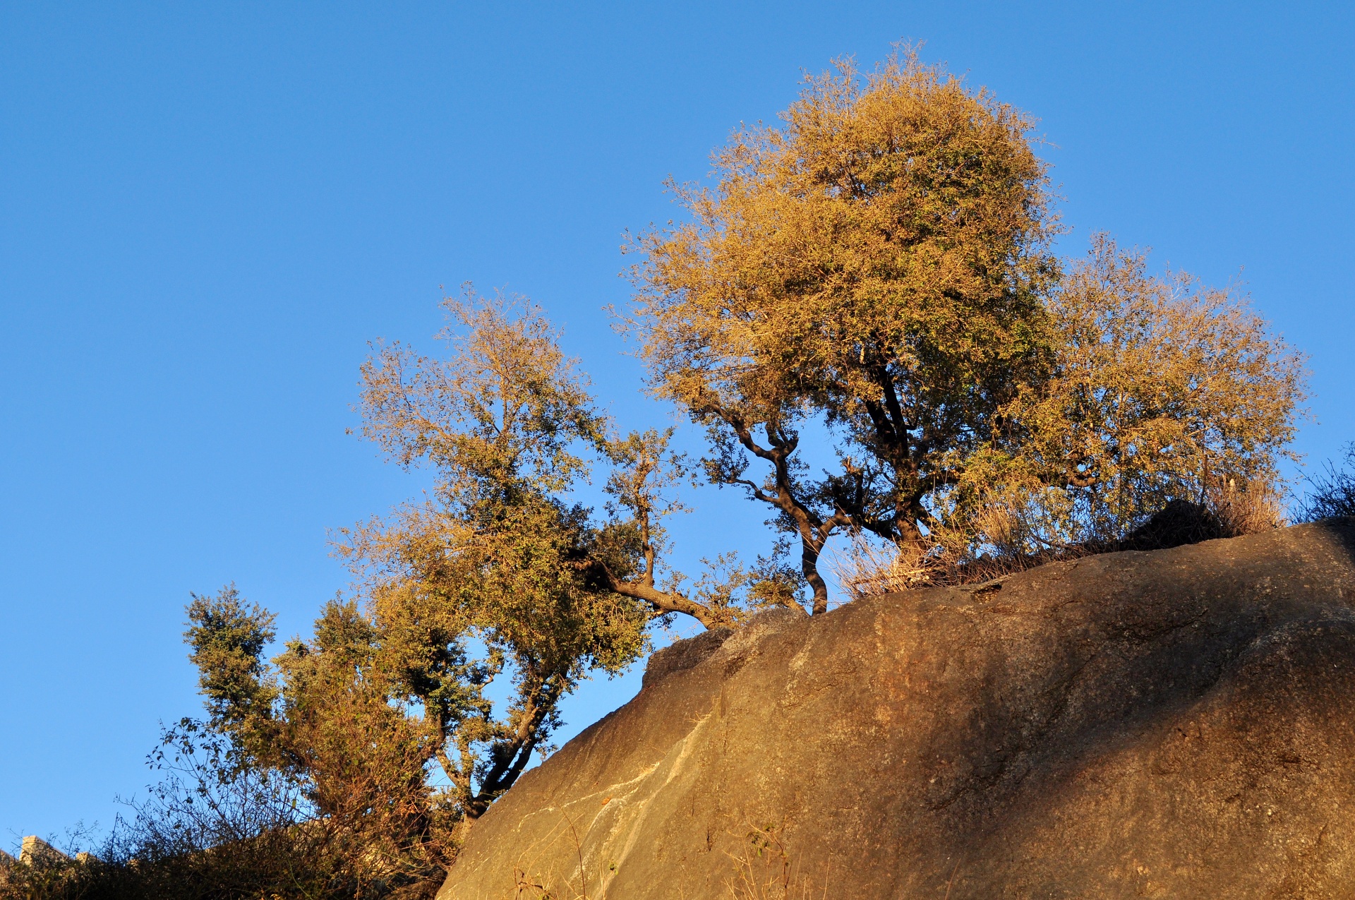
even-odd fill
[{"label": "tallest golden-leaved tree with dark forked trunks atop the boulder", "polygon": [[[798,538],[821,613],[832,533],[927,546],[1047,366],[1056,221],[1031,121],[912,52],[810,77],[783,118],[675,188],[691,221],[637,241],[630,325],[654,392],[710,427],[711,478]],[[795,457],[813,415],[843,436],[822,477]]]}]

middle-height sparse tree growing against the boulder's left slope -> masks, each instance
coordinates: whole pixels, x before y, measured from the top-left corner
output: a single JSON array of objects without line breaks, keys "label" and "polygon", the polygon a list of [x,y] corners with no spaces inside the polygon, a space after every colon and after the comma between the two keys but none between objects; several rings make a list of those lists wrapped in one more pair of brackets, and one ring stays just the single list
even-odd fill
[{"label": "middle-height sparse tree growing against the boulder's left slope", "polygon": [[[467,291],[444,305],[444,359],[382,346],[362,370],[364,435],[400,465],[431,464],[432,496],[339,546],[364,577],[390,676],[425,710],[474,819],[545,744],[585,672],[640,655],[648,615],[596,583],[596,529],[566,499],[587,474],[580,450],[607,446],[587,380],[523,301]],[[467,660],[467,641],[485,655]],[[514,695],[495,718],[482,686],[500,674]]]}]

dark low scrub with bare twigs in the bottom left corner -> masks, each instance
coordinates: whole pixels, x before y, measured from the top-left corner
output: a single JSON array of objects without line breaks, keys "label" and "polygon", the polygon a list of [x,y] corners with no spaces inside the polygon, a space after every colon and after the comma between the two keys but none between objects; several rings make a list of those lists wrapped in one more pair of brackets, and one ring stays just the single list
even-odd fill
[{"label": "dark low scrub with bare twigs in the bottom left corner", "polygon": [[302,786],[241,764],[238,747],[186,720],[150,763],[161,781],[92,854],[49,854],[0,869],[0,896],[24,900],[428,897],[427,878],[383,867],[356,835],[317,817]]}]

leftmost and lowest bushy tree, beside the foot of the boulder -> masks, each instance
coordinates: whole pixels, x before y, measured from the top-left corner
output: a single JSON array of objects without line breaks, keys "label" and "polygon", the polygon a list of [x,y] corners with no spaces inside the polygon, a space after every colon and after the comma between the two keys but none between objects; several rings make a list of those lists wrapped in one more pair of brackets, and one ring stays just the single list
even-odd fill
[{"label": "leftmost and lowest bushy tree, beside the foot of the boulder", "polygon": [[[341,884],[379,881],[417,895],[446,872],[459,816],[427,783],[434,750],[425,718],[382,670],[379,636],[354,603],[328,603],[314,637],[290,641],[271,666],[260,638],[271,637],[272,615],[247,607],[233,587],[195,596],[188,617],[186,637],[210,718],[180,722],[167,747],[196,760],[188,774],[199,788],[180,796],[182,786],[172,785],[173,794],[149,811],[159,815],[142,816],[141,831],[157,838],[152,843],[165,843],[168,817],[169,825],[215,830],[183,835],[194,851],[222,840],[248,839],[259,851],[279,840],[305,844],[324,857],[310,861],[310,874]],[[218,815],[198,816],[194,797]],[[279,806],[289,798],[290,809]],[[240,801],[241,809],[229,806]],[[253,828],[249,819],[248,834],[222,832],[240,812],[260,811],[274,816],[272,825]],[[280,839],[270,828],[301,831]]]}]

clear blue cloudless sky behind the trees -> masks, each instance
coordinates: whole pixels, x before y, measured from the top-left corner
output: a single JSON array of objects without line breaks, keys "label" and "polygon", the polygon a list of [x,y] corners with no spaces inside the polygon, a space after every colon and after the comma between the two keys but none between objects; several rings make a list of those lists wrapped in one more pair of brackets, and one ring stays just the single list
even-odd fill
[{"label": "clear blue cloudless sky behind the trees", "polygon": [[[203,11],[207,7],[214,9]],[[423,484],[347,436],[378,336],[439,285],[537,298],[626,423],[668,412],[600,308],[802,69],[925,41],[1041,119],[1088,232],[1243,277],[1312,354],[1313,459],[1355,438],[1355,20],[1304,3],[0,5],[0,846],[107,824],[199,710],[188,591],[308,628],[327,529]],[[760,550],[705,492],[682,557]],[[589,686],[569,733],[638,686]]]}]

